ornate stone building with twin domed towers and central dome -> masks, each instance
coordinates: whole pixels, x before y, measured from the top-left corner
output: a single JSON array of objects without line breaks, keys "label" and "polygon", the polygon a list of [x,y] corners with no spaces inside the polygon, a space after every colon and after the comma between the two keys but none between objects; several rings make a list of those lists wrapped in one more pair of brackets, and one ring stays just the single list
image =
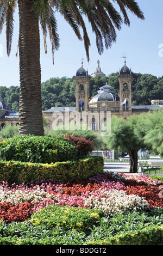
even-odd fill
[{"label": "ornate stone building with twin domed towers and central dome", "polygon": [[[105,76],[98,66],[96,75]],[[87,126],[91,130],[100,130],[106,126],[107,121],[112,115],[127,118],[131,114],[140,114],[149,110],[162,109],[162,100],[152,101],[149,106],[132,106],[132,80],[131,70],[126,65],[120,69],[118,82],[120,84],[119,93],[114,93],[114,88],[105,84],[99,88],[97,94],[90,99],[89,95],[89,76],[88,72],[82,66],[77,70],[76,76],[76,107],[52,107],[43,111],[49,129],[77,129],[77,125]],[[0,127],[11,123],[18,125],[18,112],[10,111],[9,107],[0,98]],[[85,125],[85,126],[84,126]]]}]

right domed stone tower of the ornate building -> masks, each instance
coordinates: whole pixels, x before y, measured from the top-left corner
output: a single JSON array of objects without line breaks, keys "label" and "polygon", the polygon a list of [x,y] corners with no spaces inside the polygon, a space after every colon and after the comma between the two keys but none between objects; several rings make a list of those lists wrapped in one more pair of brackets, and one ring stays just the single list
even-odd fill
[{"label": "right domed stone tower of the ornate building", "polygon": [[120,74],[118,76],[118,81],[120,83],[120,112],[131,114],[132,106],[131,106],[131,83],[133,80],[133,76],[131,75],[131,69],[126,65],[126,61],[124,62],[124,66],[120,70]]}]

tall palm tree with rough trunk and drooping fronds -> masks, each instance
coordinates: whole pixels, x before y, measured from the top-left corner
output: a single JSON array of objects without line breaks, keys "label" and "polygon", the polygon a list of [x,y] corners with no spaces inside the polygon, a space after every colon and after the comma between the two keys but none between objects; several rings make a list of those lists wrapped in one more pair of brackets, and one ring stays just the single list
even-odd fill
[{"label": "tall palm tree with rough trunk and drooping fronds", "polygon": [[[130,25],[127,9],[140,19],[144,16],[134,0],[0,0],[0,33],[6,25],[7,54],[10,55],[14,29],[14,11],[18,3],[19,13],[19,58],[20,58],[20,106],[19,134],[43,136],[41,106],[41,67],[40,67],[40,31],[41,24],[45,53],[47,53],[47,32],[54,51],[59,49],[59,35],[54,11],[58,11],[71,25],[79,40],[82,40],[80,27],[83,29],[84,46],[89,61],[90,39],[86,31],[83,16],[89,20],[92,31],[96,34],[98,53],[102,54],[104,45],[111,47],[116,41],[116,29],[120,30],[123,19],[111,3],[117,3],[123,14],[124,23]],[[104,41],[104,44],[103,44]]]}]

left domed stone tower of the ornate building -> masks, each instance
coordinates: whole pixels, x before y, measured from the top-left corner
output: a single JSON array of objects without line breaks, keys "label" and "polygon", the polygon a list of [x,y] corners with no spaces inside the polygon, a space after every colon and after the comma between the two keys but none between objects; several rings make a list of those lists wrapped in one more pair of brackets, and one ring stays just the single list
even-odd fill
[{"label": "left domed stone tower of the ornate building", "polygon": [[76,111],[88,111],[89,107],[89,77],[83,68],[78,69],[76,77]]}]

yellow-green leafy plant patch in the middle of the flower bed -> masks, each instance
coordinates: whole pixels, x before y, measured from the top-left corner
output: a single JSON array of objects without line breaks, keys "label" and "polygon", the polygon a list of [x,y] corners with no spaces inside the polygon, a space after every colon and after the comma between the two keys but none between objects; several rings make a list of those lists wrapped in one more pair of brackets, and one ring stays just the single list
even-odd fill
[{"label": "yellow-green leafy plant patch in the middle of the flower bed", "polygon": [[104,216],[102,210],[76,208],[70,206],[48,205],[30,218],[33,225],[45,225],[52,229],[63,227],[65,230],[87,231]]}]

